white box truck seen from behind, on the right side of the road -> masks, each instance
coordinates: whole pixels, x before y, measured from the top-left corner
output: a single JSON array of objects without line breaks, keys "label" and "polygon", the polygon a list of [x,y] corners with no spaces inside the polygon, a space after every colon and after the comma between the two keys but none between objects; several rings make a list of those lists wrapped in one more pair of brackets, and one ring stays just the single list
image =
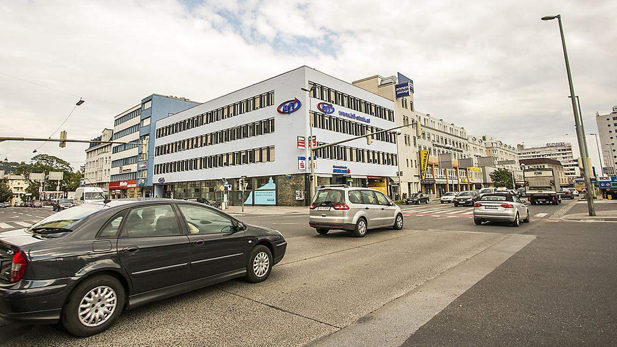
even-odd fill
[{"label": "white box truck seen from behind, on the right side of the road", "polygon": [[558,192],[561,190],[559,177],[553,169],[526,169],[523,172],[525,180],[525,193],[532,205],[539,203],[550,203],[558,205],[560,197]]}]

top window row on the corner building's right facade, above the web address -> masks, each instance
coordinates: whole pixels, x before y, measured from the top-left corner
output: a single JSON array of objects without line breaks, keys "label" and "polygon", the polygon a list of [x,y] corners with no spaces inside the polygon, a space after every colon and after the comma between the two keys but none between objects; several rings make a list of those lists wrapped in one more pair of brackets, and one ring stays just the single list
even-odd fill
[{"label": "top window row on the corner building's right facade, above the web address", "polygon": [[[313,86],[315,88],[313,88]],[[313,98],[394,122],[394,111],[391,109],[372,104],[371,102],[341,93],[340,91],[333,90],[326,86],[318,85],[315,82],[309,82],[309,89],[310,88],[313,88],[311,92]]]}]

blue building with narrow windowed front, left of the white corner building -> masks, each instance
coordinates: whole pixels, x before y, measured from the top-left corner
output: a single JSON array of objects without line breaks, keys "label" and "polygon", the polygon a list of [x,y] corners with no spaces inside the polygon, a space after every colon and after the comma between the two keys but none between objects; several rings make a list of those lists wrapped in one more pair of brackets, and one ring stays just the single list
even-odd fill
[{"label": "blue building with narrow windowed front, left of the white corner building", "polygon": [[152,190],[152,175],[154,174],[154,138],[157,120],[171,114],[184,111],[200,102],[175,96],[152,94],[141,100],[141,115],[139,127],[140,142],[147,143],[144,148],[139,146],[137,161],[137,187],[141,196],[154,197]]}]

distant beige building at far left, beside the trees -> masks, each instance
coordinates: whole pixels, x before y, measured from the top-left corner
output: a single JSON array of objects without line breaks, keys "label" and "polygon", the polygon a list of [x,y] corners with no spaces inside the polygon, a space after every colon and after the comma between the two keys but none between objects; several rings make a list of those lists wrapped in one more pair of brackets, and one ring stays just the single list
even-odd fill
[{"label": "distant beige building at far left, beside the trees", "polygon": [[[103,129],[101,136],[93,141],[111,141],[114,130]],[[112,144],[91,143],[86,149],[86,163],[84,167],[84,179],[86,186],[103,188],[107,191],[109,186],[109,172],[112,165]]]}]

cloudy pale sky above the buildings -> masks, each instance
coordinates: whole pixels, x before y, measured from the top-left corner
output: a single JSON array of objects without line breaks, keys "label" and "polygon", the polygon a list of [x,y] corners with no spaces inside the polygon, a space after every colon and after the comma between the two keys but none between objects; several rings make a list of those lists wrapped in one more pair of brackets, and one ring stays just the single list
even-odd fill
[{"label": "cloudy pale sky above the buildings", "polygon": [[[614,0],[1,1],[0,136],[48,137],[81,97],[60,130],[90,139],[149,94],[207,101],[309,65],[350,82],[402,72],[418,111],[469,133],[576,143],[558,24],[540,17],[563,17],[591,133],[617,104],[616,13]],[[84,149],[38,151],[78,167]]]}]

